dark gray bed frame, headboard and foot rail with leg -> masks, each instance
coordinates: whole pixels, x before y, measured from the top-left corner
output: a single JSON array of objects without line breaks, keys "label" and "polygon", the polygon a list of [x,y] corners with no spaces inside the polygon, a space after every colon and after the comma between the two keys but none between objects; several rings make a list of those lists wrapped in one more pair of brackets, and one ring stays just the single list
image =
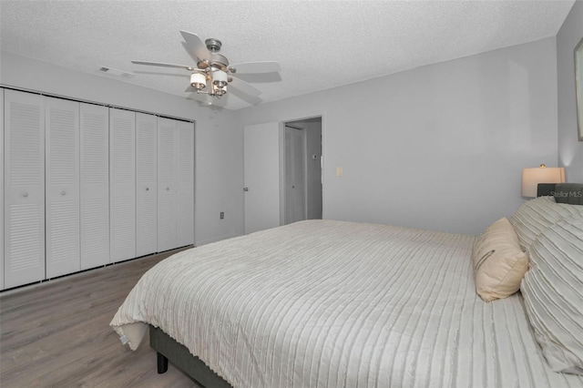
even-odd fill
[{"label": "dark gray bed frame, headboard and foot rail with leg", "polygon": [[[583,183],[541,183],[537,197],[554,196],[558,203],[583,205]],[[192,355],[186,346],[172,339],[154,326],[149,327],[149,345],[158,354],[158,373],[168,371],[168,362],[179,368],[192,380],[204,387],[231,387],[219,374],[214,373],[199,357]]]}]

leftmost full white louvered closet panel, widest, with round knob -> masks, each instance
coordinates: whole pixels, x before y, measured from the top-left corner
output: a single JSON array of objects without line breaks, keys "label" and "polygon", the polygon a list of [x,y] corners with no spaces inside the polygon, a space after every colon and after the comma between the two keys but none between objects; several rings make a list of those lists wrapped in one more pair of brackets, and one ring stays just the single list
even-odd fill
[{"label": "leftmost full white louvered closet panel, widest, with round knob", "polygon": [[5,90],[5,288],[45,279],[45,100]]}]

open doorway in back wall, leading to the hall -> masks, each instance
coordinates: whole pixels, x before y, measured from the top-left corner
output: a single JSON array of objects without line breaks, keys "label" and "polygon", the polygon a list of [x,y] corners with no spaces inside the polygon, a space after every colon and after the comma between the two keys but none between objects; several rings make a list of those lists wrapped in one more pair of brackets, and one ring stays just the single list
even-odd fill
[{"label": "open doorway in back wall, leading to the hall", "polygon": [[283,123],[281,220],[322,220],[322,117]]}]

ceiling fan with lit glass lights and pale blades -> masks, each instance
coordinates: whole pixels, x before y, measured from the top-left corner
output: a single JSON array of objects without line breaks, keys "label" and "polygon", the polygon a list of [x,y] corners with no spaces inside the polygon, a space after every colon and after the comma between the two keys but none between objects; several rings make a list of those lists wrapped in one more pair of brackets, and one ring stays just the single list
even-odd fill
[{"label": "ceiling fan with lit glass lights and pale blades", "polygon": [[[238,74],[275,73],[281,70],[277,62],[244,62],[230,65],[226,56],[219,54],[222,43],[219,39],[210,38],[203,44],[199,36],[187,31],[180,31],[184,38],[182,46],[194,59],[196,66],[175,65],[160,62],[131,61],[136,65],[162,66],[182,68],[190,73],[190,85],[185,92],[193,92],[192,98],[212,104],[213,97],[220,98],[227,93],[227,87],[231,91],[239,91],[247,95],[252,101],[259,102],[261,90],[251,86],[246,81],[238,78]],[[196,93],[195,93],[196,92]],[[240,93],[237,93],[240,96]]]}]

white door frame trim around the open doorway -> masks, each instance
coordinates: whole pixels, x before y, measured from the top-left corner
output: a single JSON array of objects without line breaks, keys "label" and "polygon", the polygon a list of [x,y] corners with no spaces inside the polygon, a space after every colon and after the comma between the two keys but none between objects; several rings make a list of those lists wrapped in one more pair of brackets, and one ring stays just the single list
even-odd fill
[{"label": "white door frame trim around the open doorway", "polygon": [[[308,115],[308,116],[304,116],[304,117],[294,117],[294,118],[287,118],[287,119],[283,119],[280,120],[280,224],[283,225],[285,222],[285,126],[288,123],[292,123],[295,121],[303,121],[303,120],[309,120],[311,118],[317,118],[320,117],[321,121],[322,121],[322,156],[321,156],[321,160],[322,160],[322,170],[321,170],[321,177],[322,177],[322,219],[324,219],[324,215],[325,215],[325,196],[324,196],[324,190],[325,190],[325,174],[324,174],[324,168],[325,168],[325,149],[324,149],[324,144],[325,144],[325,131],[324,131],[324,113],[314,113],[312,115]],[[303,128],[302,130],[306,130],[305,128]],[[307,136],[304,133],[303,136],[303,148],[304,151],[307,149],[307,145],[306,145],[306,141],[307,141]],[[306,169],[306,163],[307,160],[303,161],[303,166],[304,166],[304,172]],[[304,203],[306,204],[305,206],[305,214],[307,215],[307,211],[308,211],[308,199],[307,199],[307,195],[308,195],[308,185],[307,185],[307,174],[304,173]]]}]

